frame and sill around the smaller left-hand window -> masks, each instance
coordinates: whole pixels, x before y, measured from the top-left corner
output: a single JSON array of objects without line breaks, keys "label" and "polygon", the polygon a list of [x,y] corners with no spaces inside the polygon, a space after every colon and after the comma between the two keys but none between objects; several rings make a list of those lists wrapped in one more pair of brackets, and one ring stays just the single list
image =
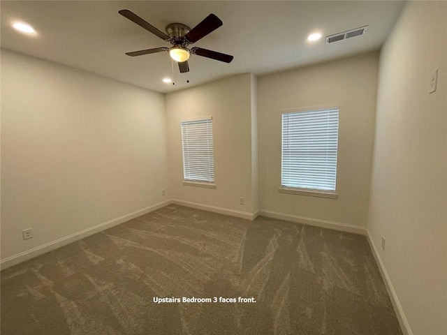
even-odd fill
[{"label": "frame and sill around the smaller left-hand window", "polygon": [[[211,128],[211,155],[208,156],[208,159],[210,159],[211,157],[211,161],[212,161],[212,181],[207,181],[205,179],[187,179],[186,178],[186,160],[187,160],[187,156],[185,156],[185,137],[184,137],[184,124],[192,124],[194,122],[200,122],[200,121],[207,121],[207,124],[210,124],[210,128]],[[209,122],[210,121],[210,122]],[[212,131],[212,127],[213,127],[213,119],[210,116],[207,117],[193,117],[193,118],[189,118],[189,119],[183,119],[180,121],[180,137],[182,140],[182,168],[183,168],[183,185],[184,186],[198,186],[198,187],[204,187],[204,188],[216,188],[216,178],[215,178],[215,169],[214,169],[214,135],[213,135],[213,131]],[[207,140],[210,140],[209,138],[207,138]],[[191,165],[191,163],[189,163],[189,165]]]}]

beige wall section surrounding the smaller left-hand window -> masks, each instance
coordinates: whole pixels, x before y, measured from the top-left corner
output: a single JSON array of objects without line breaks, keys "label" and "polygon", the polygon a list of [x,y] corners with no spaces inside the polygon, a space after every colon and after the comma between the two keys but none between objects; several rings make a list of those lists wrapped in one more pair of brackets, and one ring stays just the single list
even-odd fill
[{"label": "beige wall section surrounding the smaller left-hand window", "polygon": [[[170,187],[176,200],[253,213],[252,79],[247,73],[166,94]],[[180,121],[200,116],[213,117],[217,188],[183,185]],[[240,197],[245,199],[243,205]]]}]

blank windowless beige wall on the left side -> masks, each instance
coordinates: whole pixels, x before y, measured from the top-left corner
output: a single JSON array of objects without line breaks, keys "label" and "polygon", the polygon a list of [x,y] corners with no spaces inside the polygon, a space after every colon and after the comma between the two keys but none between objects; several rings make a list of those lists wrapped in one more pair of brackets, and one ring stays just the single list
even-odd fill
[{"label": "blank windowless beige wall on the left side", "polygon": [[2,50],[2,260],[162,202],[164,108],[162,94]]}]

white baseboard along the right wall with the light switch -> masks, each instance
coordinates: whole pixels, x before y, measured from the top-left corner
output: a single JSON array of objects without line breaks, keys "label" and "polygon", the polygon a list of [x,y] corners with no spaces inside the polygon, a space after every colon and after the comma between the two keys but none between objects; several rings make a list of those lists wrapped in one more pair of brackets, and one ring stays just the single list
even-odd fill
[{"label": "white baseboard along the right wall with the light switch", "polygon": [[402,332],[404,333],[404,335],[413,335],[413,332],[411,332],[411,328],[408,323],[408,320],[406,320],[404,310],[402,309],[400,301],[397,298],[396,291],[394,290],[394,287],[393,287],[393,283],[391,283],[390,277],[388,276],[388,272],[386,271],[385,265],[383,265],[379,251],[376,248],[376,244],[374,244],[374,241],[371,237],[371,234],[369,233],[369,230],[366,230],[366,231],[367,231],[366,236],[367,236],[367,239],[369,242],[369,246],[371,247],[372,254],[374,255],[374,258],[376,259],[376,263],[379,265],[379,270],[381,272],[383,281],[385,282],[386,290],[388,291],[388,295],[390,296],[390,300],[391,300],[391,303],[393,304],[394,311],[397,315],[397,320],[399,321],[400,328],[402,329]]}]

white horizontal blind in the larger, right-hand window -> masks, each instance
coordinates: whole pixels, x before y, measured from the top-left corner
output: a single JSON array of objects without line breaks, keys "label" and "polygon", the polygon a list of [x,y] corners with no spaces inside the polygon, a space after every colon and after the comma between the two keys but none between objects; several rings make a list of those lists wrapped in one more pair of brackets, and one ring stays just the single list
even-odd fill
[{"label": "white horizontal blind in the larger, right-hand window", "polygon": [[281,186],[335,191],[338,107],[282,114]]}]

